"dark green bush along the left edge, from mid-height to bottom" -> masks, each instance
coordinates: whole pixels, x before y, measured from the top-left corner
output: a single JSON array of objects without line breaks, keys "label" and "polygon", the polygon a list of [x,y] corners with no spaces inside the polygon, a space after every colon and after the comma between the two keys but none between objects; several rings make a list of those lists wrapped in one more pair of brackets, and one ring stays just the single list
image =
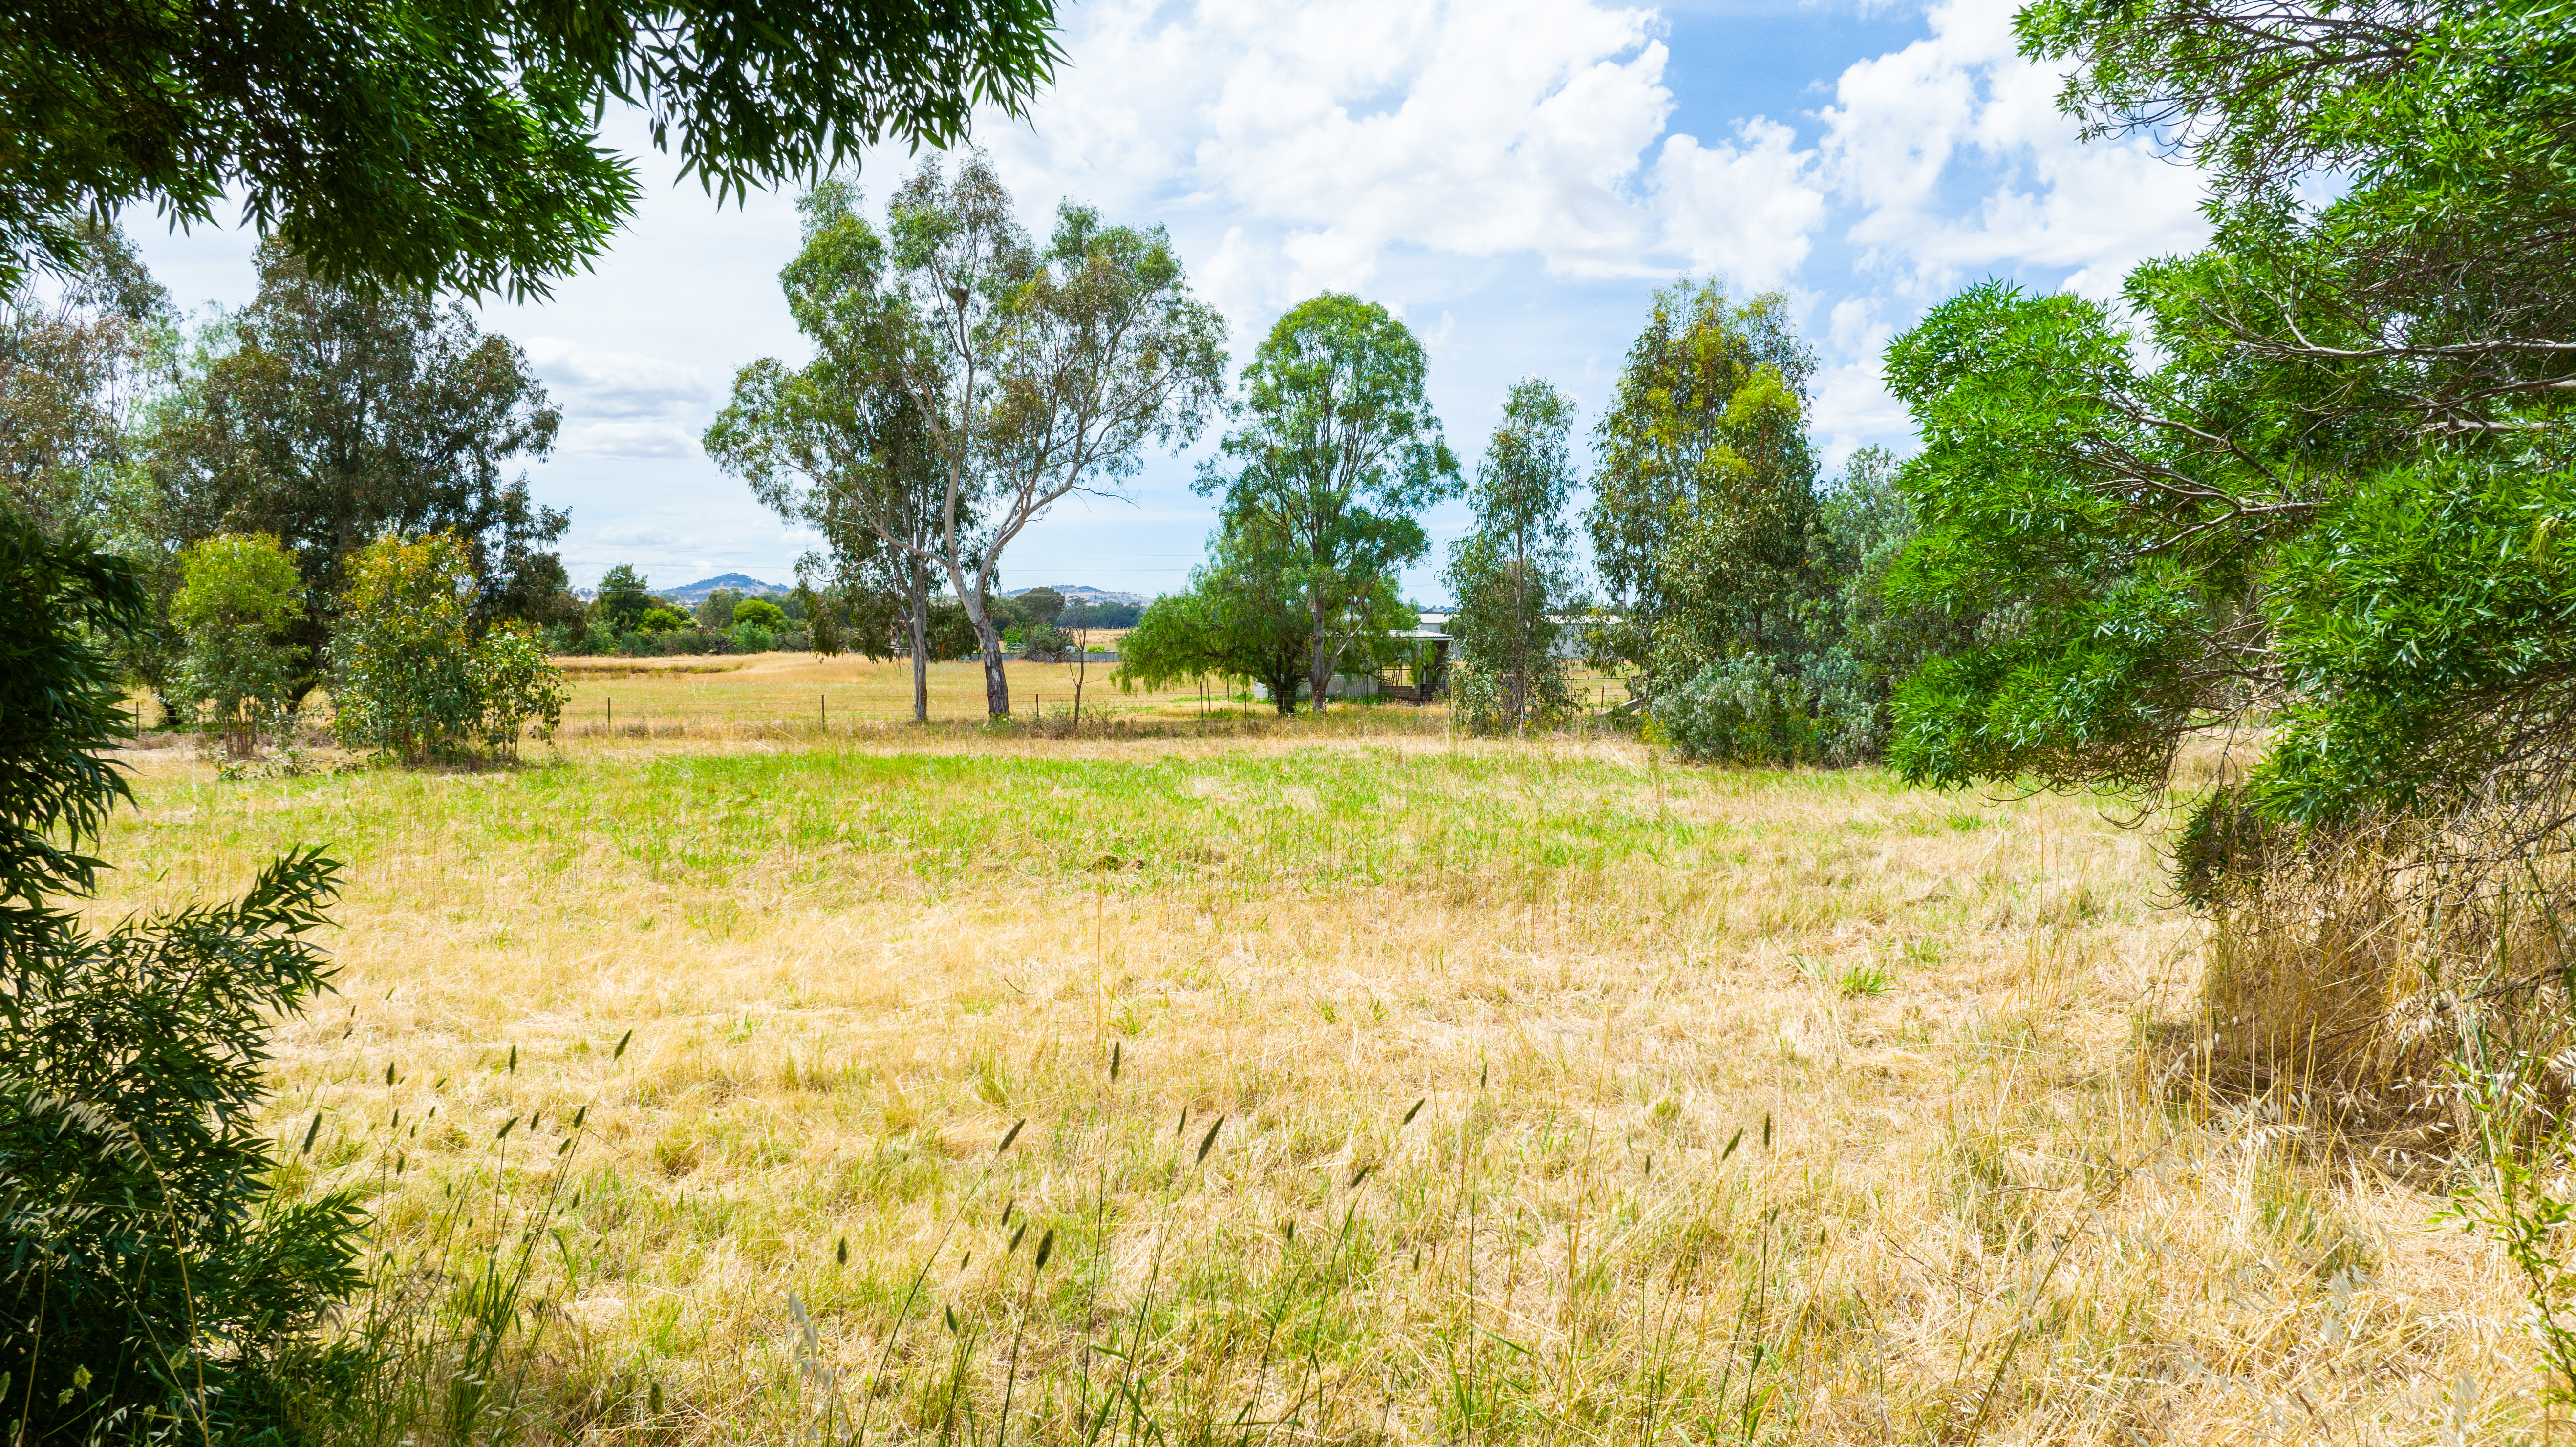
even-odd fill
[{"label": "dark green bush along the left edge, from mid-height to bottom", "polygon": [[129,564],[0,510],[0,1401],[13,1442],[296,1442],[361,1370],[319,1331],[358,1287],[350,1192],[278,1202],[265,1038],[327,989],[337,868],[301,850],[234,904],[103,932],[80,852],[129,801],[106,644]]}]

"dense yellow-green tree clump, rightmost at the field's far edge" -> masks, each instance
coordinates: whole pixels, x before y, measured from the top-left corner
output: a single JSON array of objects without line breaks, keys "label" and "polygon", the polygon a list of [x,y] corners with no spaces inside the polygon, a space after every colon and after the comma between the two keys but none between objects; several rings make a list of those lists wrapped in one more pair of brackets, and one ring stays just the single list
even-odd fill
[{"label": "dense yellow-green tree clump, rightmost at the field's far edge", "polygon": [[1620,373],[1587,515],[1610,592],[1592,631],[1685,760],[1855,765],[1893,682],[1942,641],[1888,569],[1914,530],[1883,453],[1816,487],[1814,355],[1777,294],[1677,283]]}]

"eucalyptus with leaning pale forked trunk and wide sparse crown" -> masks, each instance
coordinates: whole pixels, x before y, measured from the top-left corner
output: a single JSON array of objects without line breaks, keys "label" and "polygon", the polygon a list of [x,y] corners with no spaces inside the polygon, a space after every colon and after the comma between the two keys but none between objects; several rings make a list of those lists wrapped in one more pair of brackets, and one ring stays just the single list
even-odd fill
[{"label": "eucalyptus with leaning pale forked trunk and wide sparse crown", "polygon": [[1162,227],[1056,209],[1041,247],[981,154],[896,191],[873,366],[912,399],[943,479],[938,564],[984,654],[984,708],[1010,716],[994,582],[1056,502],[1115,497],[1151,445],[1188,445],[1224,394],[1224,319],[1190,294]]}]

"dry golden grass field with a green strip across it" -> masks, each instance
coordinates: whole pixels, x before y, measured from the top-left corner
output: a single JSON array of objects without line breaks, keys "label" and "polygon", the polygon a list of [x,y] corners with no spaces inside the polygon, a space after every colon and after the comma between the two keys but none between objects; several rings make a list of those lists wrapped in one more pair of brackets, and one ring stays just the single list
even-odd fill
[{"label": "dry golden grass field with a green strip across it", "polygon": [[291,1190],[410,1262],[567,1161],[567,1437],[2540,1432],[2429,1182],[2166,1074],[2197,924],[2087,801],[1350,726],[137,770],[106,911],[350,865]]}]

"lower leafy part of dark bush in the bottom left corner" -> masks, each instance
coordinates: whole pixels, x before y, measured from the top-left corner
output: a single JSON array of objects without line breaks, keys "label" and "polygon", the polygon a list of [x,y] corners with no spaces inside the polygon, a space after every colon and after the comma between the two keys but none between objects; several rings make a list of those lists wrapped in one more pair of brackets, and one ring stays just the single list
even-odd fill
[{"label": "lower leafy part of dark bush in the bottom left corner", "polygon": [[294,1432],[363,1344],[314,1339],[358,1285],[355,1192],[268,1195],[265,1035],[325,986],[301,935],[337,865],[240,904],[10,950],[0,1004],[0,1372],[31,1442]]}]

